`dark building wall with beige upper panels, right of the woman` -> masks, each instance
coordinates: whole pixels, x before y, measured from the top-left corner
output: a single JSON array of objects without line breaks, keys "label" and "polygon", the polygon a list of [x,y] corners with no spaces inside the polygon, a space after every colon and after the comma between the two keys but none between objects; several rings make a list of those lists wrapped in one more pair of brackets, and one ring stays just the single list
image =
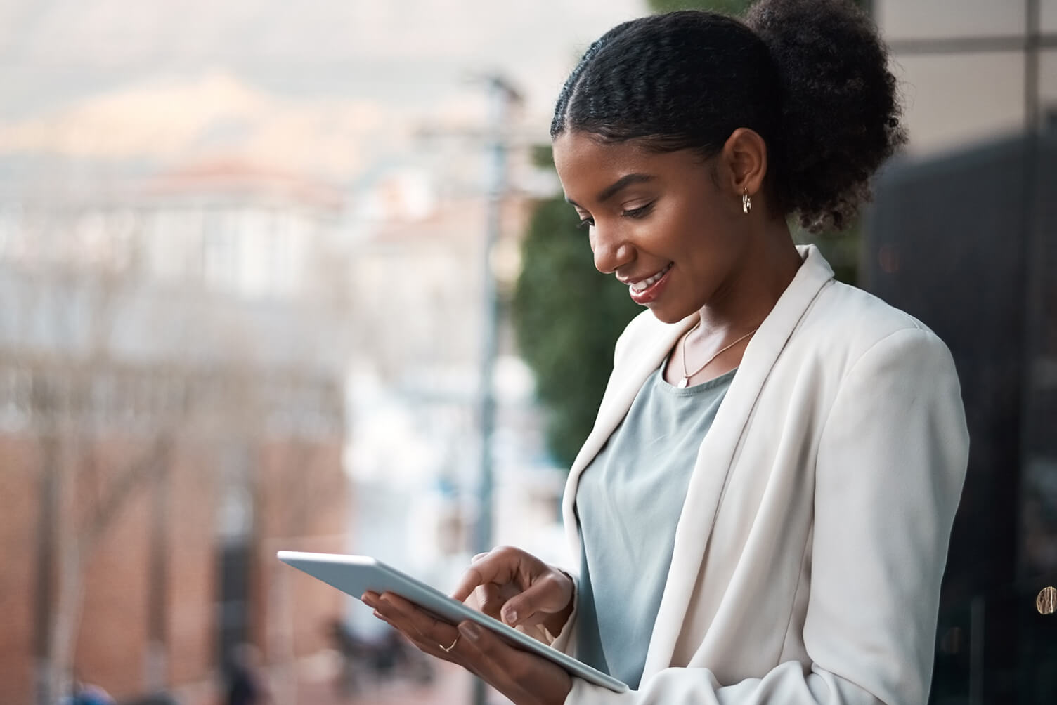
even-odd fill
[{"label": "dark building wall with beige upper panels, right of the woman", "polygon": [[1057,700],[1057,2],[874,0],[910,130],[878,179],[864,285],[954,356],[969,470],[932,701]]}]

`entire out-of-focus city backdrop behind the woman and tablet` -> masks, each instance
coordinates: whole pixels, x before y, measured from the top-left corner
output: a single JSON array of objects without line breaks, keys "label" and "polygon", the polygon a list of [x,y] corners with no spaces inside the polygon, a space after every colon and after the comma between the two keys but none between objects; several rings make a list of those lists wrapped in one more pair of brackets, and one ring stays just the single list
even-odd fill
[{"label": "entire out-of-focus city backdrop behind the woman and tablet", "polygon": [[[746,4],[0,0],[0,703],[499,702],[275,552],[565,560],[635,307],[553,100]],[[932,701],[1057,702],[1057,0],[861,4],[910,144],[815,242],[962,378]]]}]

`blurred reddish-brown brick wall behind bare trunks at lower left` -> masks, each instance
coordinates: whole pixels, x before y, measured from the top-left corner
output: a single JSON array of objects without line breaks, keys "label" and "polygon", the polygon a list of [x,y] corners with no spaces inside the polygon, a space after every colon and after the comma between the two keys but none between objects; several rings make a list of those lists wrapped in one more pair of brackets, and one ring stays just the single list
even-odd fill
[{"label": "blurred reddish-brown brick wall behind bare trunks at lower left", "polygon": [[[109,442],[92,449],[95,462],[80,471],[77,502],[90,509],[110,482],[143,454],[143,444]],[[35,558],[40,502],[39,444],[0,436],[0,703],[30,705],[34,698]],[[294,656],[328,646],[324,625],[338,616],[341,595],[303,575],[286,574],[284,604],[276,603],[278,548],[340,551],[349,501],[340,468],[340,441],[272,441],[254,450],[255,558],[249,576],[251,639],[268,653],[277,630],[292,629]],[[173,690],[219,683],[217,595],[219,547],[217,459],[207,446],[182,444],[167,456],[164,501],[142,481],[122,504],[92,552],[84,576],[75,668],[114,697],[145,692],[148,672],[150,556],[154,515],[164,531],[166,682]],[[280,546],[281,545],[281,546]],[[271,553],[271,557],[267,555]],[[273,649],[274,650],[274,649]],[[216,685],[199,688],[216,692]],[[197,702],[209,702],[205,697]]]}]

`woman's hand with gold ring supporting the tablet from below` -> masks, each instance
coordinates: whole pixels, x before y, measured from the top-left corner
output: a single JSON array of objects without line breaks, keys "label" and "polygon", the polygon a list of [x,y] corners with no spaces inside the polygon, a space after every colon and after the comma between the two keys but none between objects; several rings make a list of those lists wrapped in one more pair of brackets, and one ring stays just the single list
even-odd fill
[{"label": "woman's hand with gold ring supporting the tablet from below", "polygon": [[368,592],[363,601],[419,649],[459,664],[517,705],[561,705],[572,690],[572,678],[560,666],[511,646],[472,622],[457,628],[391,592]]}]

